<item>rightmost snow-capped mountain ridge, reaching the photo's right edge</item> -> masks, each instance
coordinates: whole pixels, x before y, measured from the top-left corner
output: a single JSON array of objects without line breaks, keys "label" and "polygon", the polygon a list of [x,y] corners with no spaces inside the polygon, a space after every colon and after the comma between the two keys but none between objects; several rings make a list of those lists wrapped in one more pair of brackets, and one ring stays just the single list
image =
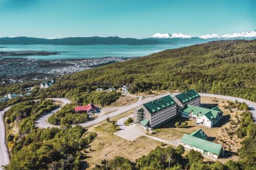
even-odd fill
[{"label": "rightmost snow-capped mountain ridge, reaching the photo's right edge", "polygon": [[256,37],[256,31],[247,31],[241,33],[233,33],[233,34],[207,34],[200,36],[199,38],[210,39],[210,38],[252,38]]}]

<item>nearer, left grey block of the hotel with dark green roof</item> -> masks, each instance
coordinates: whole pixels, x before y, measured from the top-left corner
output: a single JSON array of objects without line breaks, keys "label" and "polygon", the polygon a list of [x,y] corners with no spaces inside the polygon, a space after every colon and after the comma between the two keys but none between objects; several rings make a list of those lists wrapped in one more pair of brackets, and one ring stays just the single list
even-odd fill
[{"label": "nearer, left grey block of the hotel with dark green roof", "polygon": [[177,104],[170,95],[140,105],[134,110],[134,123],[155,128],[177,115]]}]

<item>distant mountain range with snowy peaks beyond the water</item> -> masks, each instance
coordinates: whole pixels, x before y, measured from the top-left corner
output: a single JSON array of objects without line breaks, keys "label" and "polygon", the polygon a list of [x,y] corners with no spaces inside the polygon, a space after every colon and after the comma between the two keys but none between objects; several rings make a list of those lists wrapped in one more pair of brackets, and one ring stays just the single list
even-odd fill
[{"label": "distant mountain range with snowy peaks beyond the water", "polygon": [[120,38],[110,37],[67,37],[67,38],[35,38],[35,37],[0,37],[0,44],[53,44],[53,45],[96,45],[96,44],[127,44],[127,45],[154,45],[154,44],[199,44],[216,40],[256,39],[256,31],[247,31],[232,34],[208,34],[191,36],[183,33],[156,33],[149,38]]}]

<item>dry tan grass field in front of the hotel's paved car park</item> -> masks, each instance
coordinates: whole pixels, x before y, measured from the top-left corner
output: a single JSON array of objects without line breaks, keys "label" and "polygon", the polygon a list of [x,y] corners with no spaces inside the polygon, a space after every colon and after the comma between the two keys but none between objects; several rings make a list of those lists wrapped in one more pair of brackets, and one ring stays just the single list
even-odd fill
[{"label": "dry tan grass field in front of the hotel's paved car park", "polygon": [[[111,121],[116,121],[132,114],[132,112],[133,110],[116,116],[111,119]],[[160,142],[147,137],[141,137],[129,142],[121,137],[112,135],[115,130],[113,129],[111,122],[104,122],[99,126],[90,128],[90,131],[92,130],[97,132],[98,136],[90,144],[90,147],[86,149],[86,154],[88,156],[86,161],[89,162],[89,169],[92,169],[96,163],[100,164],[100,161],[105,158],[106,154],[108,154],[108,159],[113,159],[115,156],[119,155],[135,161],[135,159],[148,154],[151,150],[160,145]]]}]

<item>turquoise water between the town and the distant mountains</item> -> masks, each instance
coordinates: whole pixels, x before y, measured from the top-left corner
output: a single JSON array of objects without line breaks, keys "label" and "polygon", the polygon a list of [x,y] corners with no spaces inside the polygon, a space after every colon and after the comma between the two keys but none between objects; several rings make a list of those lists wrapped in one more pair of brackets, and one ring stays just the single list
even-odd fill
[{"label": "turquoise water between the town and the distant mountains", "polygon": [[[59,52],[49,56],[18,56],[41,60],[81,59],[102,57],[141,57],[163,50],[188,46],[189,44],[158,45],[0,45],[0,51],[48,51]],[[10,56],[8,56],[10,57]],[[17,56],[12,56],[17,57]]]}]

